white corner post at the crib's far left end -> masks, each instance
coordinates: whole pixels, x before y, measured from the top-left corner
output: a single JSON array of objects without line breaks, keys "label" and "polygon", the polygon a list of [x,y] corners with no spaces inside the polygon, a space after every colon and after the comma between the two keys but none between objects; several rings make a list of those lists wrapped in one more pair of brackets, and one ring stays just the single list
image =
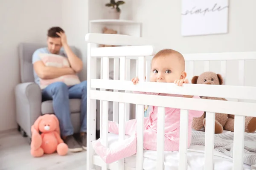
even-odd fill
[{"label": "white corner post at the crib's far left end", "polygon": [[87,165],[86,169],[91,170],[95,169],[93,164],[93,155],[94,150],[91,144],[92,141],[95,141],[96,138],[96,99],[91,99],[90,90],[96,90],[96,88],[91,88],[91,79],[96,79],[96,67],[91,67],[96,65],[97,60],[95,57],[91,57],[91,48],[96,48],[96,44],[88,43],[87,45]]}]

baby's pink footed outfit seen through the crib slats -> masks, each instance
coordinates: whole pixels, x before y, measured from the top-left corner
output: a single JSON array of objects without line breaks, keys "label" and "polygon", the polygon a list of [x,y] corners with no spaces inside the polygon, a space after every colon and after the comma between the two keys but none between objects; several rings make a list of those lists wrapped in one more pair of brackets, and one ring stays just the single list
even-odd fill
[{"label": "baby's pink footed outfit seen through the crib slats", "polygon": [[[147,93],[147,92],[134,92],[139,94],[149,95],[161,95],[161,96],[176,96],[183,97],[182,95],[174,94],[159,94],[159,93]],[[199,96],[193,98],[200,99]],[[177,108],[165,108],[165,151],[177,151],[179,150],[180,139],[180,109]],[[188,128],[188,147],[191,143],[192,137],[192,119],[193,117],[200,117],[204,111],[192,111],[189,110],[189,128]],[[93,141],[93,149],[95,152],[106,162],[112,163],[119,159],[132,156],[136,153],[137,144],[137,119],[129,120],[125,123],[125,134],[129,135],[128,139],[125,139],[114,147],[107,148],[103,146],[99,140]],[[112,121],[108,122],[108,131],[118,134],[118,124]],[[145,150],[157,150],[157,106],[153,106],[151,113],[148,117],[144,118],[144,140],[143,145]]]}]

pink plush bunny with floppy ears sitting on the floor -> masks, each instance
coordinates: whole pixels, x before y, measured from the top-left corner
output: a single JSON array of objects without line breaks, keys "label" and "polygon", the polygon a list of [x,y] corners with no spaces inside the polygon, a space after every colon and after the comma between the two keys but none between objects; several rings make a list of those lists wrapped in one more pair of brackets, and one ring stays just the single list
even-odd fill
[{"label": "pink plush bunny with floppy ears sitting on the floor", "polygon": [[31,127],[31,133],[32,156],[41,157],[44,153],[51,154],[55,151],[61,156],[67,154],[68,146],[61,139],[59,122],[54,114],[39,116]]}]

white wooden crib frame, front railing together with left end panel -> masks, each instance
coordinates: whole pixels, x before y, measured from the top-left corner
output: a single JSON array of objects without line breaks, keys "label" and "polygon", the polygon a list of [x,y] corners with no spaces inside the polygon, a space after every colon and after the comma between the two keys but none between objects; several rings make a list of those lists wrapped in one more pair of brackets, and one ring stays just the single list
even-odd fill
[{"label": "white wooden crib frame, front railing together with left end panel", "polygon": [[[98,35],[97,35],[98,36]],[[96,128],[96,100],[102,101],[102,134],[104,144],[108,146],[108,101],[119,104],[119,111],[114,106],[114,121],[117,121],[115,115],[119,116],[119,140],[125,137],[125,115],[128,114],[127,103],[137,104],[137,155],[136,169],[143,169],[143,112],[144,105],[158,106],[157,120],[157,170],[163,170],[163,150],[164,150],[164,112],[166,107],[180,108],[180,150],[179,150],[179,169],[186,170],[187,167],[187,136],[188,136],[188,110],[206,111],[206,135],[205,135],[205,164],[207,170],[213,170],[213,145],[214,145],[214,126],[215,113],[227,113],[235,115],[234,132],[234,150],[233,169],[241,170],[243,167],[243,149],[244,149],[244,116],[255,116],[256,104],[248,102],[232,102],[207,99],[190,99],[168,96],[151,96],[143,94],[131,94],[128,91],[145,91],[167,94],[198,95],[211,97],[224,97],[234,99],[256,100],[256,88],[244,86],[216,86],[216,85],[194,85],[184,84],[178,87],[173,83],[155,83],[144,82],[146,74],[146,58],[154,55],[154,48],[148,46],[137,47],[110,47],[96,48],[96,44],[102,44],[101,35],[93,39],[87,37],[88,43],[88,77],[87,77],[87,170],[94,169],[94,165],[99,165],[103,170],[118,169],[124,170],[124,160],[119,160],[118,164],[105,164],[98,156],[94,155],[91,142],[95,140]],[[119,37],[119,40],[125,41],[126,37]],[[93,42],[93,43],[92,43]],[[142,40],[140,39],[140,42]],[[105,41],[105,44],[108,42]],[[117,42],[116,42],[117,43]],[[111,44],[110,44],[111,45]],[[132,44],[126,44],[132,45]],[[129,50],[128,50],[129,49]],[[99,51],[101,52],[99,52]],[[124,52],[126,51],[126,52]],[[138,77],[139,84],[133,85],[127,76],[127,54],[130,58],[138,59]],[[96,79],[96,57],[102,57],[102,79]],[[138,57],[139,56],[139,57]],[[109,58],[114,58],[114,80],[108,79]],[[134,58],[135,57],[135,58]],[[118,60],[119,59],[119,60]],[[119,62],[118,62],[119,61]],[[119,64],[119,65],[118,65]],[[221,65],[226,63],[222,62]],[[118,80],[118,67],[119,80]],[[224,66],[223,66],[224,68]],[[225,70],[225,69],[223,69]],[[97,91],[100,88],[101,91]],[[106,89],[113,89],[105,91]],[[119,92],[119,91],[125,91]],[[184,105],[186,103],[186,105]],[[246,108],[246,112],[244,109]]]}]

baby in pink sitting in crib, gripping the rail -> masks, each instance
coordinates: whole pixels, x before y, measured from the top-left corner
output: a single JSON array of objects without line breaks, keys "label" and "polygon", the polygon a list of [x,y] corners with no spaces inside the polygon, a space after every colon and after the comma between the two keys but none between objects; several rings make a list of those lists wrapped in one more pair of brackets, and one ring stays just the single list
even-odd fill
[{"label": "baby in pink sitting in crib, gripping the rail", "polygon": [[[134,85],[139,81],[138,77],[131,80]],[[179,52],[172,49],[163,49],[154,55],[151,62],[151,82],[171,82],[181,86],[183,83],[188,83],[185,72],[185,60]],[[176,94],[159,94],[148,92],[134,92],[140,94],[163,95],[198,98],[199,96],[184,96]],[[185,105],[185,103],[184,103]],[[200,117],[204,111],[189,110],[189,131],[188,131],[188,147],[191,143],[192,119]],[[109,121],[108,131],[118,134],[118,124]],[[125,123],[125,134],[129,135],[114,147],[107,148],[101,144],[101,139],[92,143],[95,152],[106,162],[112,163],[119,159],[132,156],[136,153],[137,145],[137,119],[129,120]],[[164,133],[164,150],[177,151],[179,150],[180,139],[180,109],[165,108],[165,133]],[[144,118],[144,149],[157,150],[157,106],[153,106],[153,110],[149,116]]]}]

